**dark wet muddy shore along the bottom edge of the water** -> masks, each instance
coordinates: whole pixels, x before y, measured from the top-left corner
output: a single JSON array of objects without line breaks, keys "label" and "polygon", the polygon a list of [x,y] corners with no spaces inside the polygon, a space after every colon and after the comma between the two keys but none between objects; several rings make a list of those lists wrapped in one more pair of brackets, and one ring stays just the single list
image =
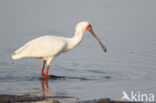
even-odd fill
[{"label": "dark wet muddy shore along the bottom edge of the water", "polygon": [[[43,96],[31,96],[31,95],[0,95],[0,103],[14,103],[14,102],[28,102],[28,103],[61,103],[57,99],[66,99],[72,97],[43,97]],[[131,102],[131,101],[113,101],[109,98],[96,99],[96,100],[76,100],[69,103],[143,103],[143,102]]]}]

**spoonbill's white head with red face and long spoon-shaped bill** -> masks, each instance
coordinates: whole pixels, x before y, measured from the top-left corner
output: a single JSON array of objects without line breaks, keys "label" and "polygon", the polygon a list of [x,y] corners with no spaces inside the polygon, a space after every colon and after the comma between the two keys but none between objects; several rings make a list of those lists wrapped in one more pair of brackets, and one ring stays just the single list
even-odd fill
[{"label": "spoonbill's white head with red face and long spoon-shaped bill", "polygon": [[94,33],[92,26],[89,22],[83,21],[83,22],[78,23],[76,25],[76,30],[78,30],[78,31],[89,31],[96,38],[96,40],[100,44],[102,50],[104,52],[107,52],[106,47],[101,43],[100,39],[96,36],[96,34]]}]

